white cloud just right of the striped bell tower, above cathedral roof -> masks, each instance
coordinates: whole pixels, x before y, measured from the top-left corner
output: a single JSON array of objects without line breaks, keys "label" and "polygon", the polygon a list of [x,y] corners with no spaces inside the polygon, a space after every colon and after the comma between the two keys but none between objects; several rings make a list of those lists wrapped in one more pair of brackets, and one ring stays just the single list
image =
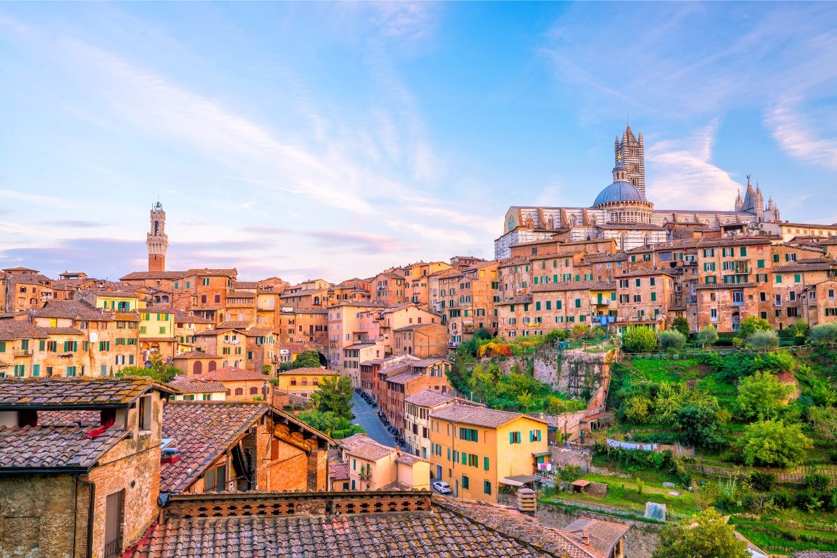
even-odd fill
[{"label": "white cloud just right of the striped bell tower, above cathedral roof", "polygon": [[665,209],[732,209],[741,187],[730,173],[712,164],[712,143],[718,120],[687,141],[661,141],[650,145],[648,160],[653,177],[648,197]]}]

